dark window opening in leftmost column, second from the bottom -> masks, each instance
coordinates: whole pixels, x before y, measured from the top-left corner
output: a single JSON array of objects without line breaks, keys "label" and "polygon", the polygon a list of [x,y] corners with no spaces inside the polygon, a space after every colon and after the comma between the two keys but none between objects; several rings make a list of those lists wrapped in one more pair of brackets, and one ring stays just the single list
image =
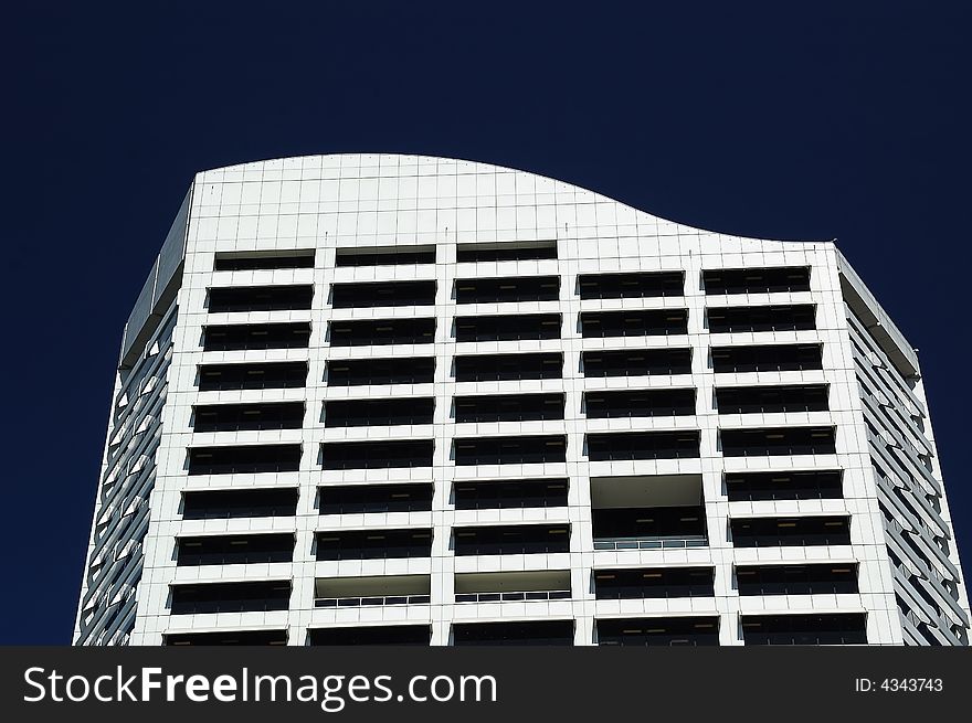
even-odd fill
[{"label": "dark window opening in leftmost column, second from the bottom", "polygon": [[172,585],[172,615],[270,613],[290,606],[290,581]]}]

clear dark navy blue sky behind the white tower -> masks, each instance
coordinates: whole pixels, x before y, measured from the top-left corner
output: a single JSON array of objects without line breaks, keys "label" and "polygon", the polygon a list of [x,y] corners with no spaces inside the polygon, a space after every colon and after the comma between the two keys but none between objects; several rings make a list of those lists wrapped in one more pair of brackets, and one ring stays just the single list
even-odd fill
[{"label": "clear dark navy blue sky behind the white tower", "polygon": [[192,174],[305,153],[467,158],[838,238],[920,349],[972,568],[966,3],[17,6],[0,642],[70,640],[122,325]]}]

